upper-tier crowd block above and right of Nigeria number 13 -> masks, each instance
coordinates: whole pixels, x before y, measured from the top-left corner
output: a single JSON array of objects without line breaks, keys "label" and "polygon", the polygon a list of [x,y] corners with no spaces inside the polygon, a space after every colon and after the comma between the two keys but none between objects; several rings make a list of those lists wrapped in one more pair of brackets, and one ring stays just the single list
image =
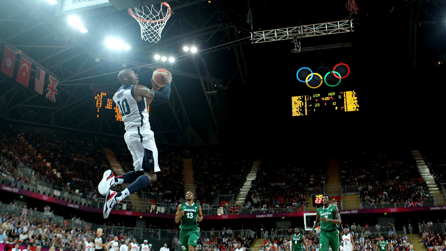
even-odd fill
[{"label": "upper-tier crowd block above and right of Nigeria number 13", "polygon": [[213,146],[191,151],[197,200],[212,205],[218,195],[234,198],[252,168],[252,157],[245,151]]}]

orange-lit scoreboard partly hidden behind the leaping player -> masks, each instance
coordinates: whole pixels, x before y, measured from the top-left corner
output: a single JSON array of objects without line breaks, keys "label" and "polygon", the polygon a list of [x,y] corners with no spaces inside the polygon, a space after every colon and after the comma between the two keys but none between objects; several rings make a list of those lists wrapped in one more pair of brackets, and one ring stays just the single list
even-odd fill
[{"label": "orange-lit scoreboard partly hidden behind the leaping player", "polygon": [[[114,93],[95,92],[96,114],[100,119],[109,119],[112,121],[122,121],[121,111],[118,105],[113,102]],[[150,106],[147,106],[147,112],[150,111]]]}]

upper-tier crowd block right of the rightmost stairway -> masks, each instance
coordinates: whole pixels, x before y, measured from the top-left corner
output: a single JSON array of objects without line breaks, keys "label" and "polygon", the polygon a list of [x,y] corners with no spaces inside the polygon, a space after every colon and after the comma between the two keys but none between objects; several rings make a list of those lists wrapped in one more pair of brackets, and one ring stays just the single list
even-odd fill
[{"label": "upper-tier crowd block right of the rightmost stairway", "polygon": [[429,147],[423,149],[421,154],[437,184],[446,183],[446,149],[441,146]]}]

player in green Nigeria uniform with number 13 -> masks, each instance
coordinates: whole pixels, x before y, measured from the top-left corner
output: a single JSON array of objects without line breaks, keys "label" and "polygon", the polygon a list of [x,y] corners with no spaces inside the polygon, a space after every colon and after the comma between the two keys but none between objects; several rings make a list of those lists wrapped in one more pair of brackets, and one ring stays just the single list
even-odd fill
[{"label": "player in green Nigeria uniform with number 13", "polygon": [[175,222],[180,223],[180,242],[182,250],[194,251],[197,247],[200,228],[198,222],[203,220],[201,206],[194,202],[192,192],[186,192],[186,202],[178,205]]}]

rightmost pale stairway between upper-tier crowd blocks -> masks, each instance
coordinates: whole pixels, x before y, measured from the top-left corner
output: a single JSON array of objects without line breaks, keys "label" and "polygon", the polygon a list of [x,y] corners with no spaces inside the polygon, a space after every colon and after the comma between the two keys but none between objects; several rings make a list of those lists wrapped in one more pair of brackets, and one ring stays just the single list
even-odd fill
[{"label": "rightmost pale stairway between upper-tier crowd blocks", "polygon": [[420,172],[421,177],[426,182],[427,187],[429,188],[430,194],[434,197],[436,205],[446,205],[446,201],[443,197],[442,190],[438,188],[437,183],[435,182],[434,176],[430,173],[429,167],[427,167],[423,156],[421,156],[420,151],[417,149],[411,150],[412,156],[415,159],[418,167],[418,172]]}]

